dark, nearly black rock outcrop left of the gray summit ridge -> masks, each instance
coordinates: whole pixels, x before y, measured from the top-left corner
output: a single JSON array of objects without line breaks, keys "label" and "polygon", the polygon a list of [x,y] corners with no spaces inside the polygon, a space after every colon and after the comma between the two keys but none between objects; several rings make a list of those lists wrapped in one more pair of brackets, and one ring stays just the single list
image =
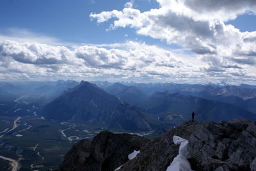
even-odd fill
[{"label": "dark, nearly black rock outcrop left of the gray summit ridge", "polygon": [[93,141],[81,140],[65,155],[59,170],[115,170],[126,161],[128,155],[139,150],[149,140],[127,133],[99,133]]}]

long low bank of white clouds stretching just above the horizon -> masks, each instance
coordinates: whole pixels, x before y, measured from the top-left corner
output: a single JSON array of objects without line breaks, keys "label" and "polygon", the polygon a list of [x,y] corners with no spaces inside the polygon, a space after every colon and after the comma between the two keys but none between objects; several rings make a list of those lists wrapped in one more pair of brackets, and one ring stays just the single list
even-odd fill
[{"label": "long low bank of white clouds stretching just above the horizon", "polygon": [[242,58],[230,57],[227,60],[216,54],[200,57],[201,60],[184,54],[182,50],[170,52],[135,41],[67,48],[32,41],[5,40],[0,41],[0,79],[197,83],[212,79],[218,82],[227,78],[230,82],[239,80],[250,83],[255,78],[255,67],[252,64],[248,66],[246,59],[237,64],[236,60]]}]

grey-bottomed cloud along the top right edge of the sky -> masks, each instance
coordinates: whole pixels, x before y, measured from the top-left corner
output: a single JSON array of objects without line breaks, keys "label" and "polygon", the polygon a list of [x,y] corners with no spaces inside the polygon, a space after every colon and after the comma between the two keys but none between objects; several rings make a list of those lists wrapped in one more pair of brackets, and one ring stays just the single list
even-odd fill
[{"label": "grey-bottomed cloud along the top right edge of the sky", "polygon": [[161,7],[179,15],[186,15],[194,20],[236,19],[243,13],[255,13],[256,3],[253,0],[157,0]]}]

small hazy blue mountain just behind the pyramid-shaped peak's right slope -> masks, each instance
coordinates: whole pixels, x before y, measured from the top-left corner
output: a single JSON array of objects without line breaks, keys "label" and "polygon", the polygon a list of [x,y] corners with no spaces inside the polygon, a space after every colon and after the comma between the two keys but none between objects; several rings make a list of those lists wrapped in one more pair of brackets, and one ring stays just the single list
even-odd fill
[{"label": "small hazy blue mountain just behind the pyramid-shaped peak's right slope", "polygon": [[140,106],[141,102],[147,100],[148,96],[137,89],[134,86],[126,86],[124,84],[115,83],[108,88],[106,91],[110,94],[114,94],[115,96],[120,97],[125,102],[131,105]]}]

